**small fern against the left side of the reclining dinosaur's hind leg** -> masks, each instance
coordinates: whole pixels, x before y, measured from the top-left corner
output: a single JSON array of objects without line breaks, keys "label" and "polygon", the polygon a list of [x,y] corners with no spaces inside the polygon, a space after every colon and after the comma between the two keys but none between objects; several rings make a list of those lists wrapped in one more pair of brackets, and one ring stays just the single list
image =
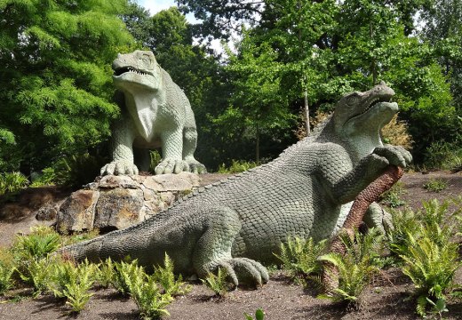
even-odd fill
[{"label": "small fern against the left side of the reclining dinosaur's hind leg", "polygon": [[173,297],[190,292],[192,289],[191,285],[184,283],[181,275],[175,279],[173,269],[173,261],[168,254],[165,253],[163,267],[156,267],[152,277],[162,286],[164,293],[170,294]]}]

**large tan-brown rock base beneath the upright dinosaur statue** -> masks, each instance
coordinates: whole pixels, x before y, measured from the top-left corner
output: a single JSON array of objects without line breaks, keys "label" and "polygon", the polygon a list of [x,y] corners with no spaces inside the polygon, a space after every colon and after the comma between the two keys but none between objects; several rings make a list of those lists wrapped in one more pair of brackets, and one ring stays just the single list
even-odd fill
[{"label": "large tan-brown rock base beneath the upright dinosaur statue", "polygon": [[56,227],[63,233],[127,228],[167,209],[199,183],[190,172],[99,177],[60,205]]}]

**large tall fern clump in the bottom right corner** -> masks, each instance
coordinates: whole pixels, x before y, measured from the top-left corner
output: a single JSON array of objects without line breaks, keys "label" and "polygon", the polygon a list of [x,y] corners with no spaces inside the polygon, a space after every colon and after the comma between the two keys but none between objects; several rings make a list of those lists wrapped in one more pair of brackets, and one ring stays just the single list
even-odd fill
[{"label": "large tall fern clump in the bottom right corner", "polygon": [[430,305],[434,311],[442,312],[442,302],[454,289],[454,275],[462,264],[458,244],[451,242],[461,209],[450,214],[449,204],[434,199],[424,202],[421,211],[401,214],[405,217],[400,218],[403,226],[395,224],[398,230],[392,231],[390,237],[392,251],[404,264],[402,272],[414,283],[420,316],[425,316],[428,300],[433,302]]}]

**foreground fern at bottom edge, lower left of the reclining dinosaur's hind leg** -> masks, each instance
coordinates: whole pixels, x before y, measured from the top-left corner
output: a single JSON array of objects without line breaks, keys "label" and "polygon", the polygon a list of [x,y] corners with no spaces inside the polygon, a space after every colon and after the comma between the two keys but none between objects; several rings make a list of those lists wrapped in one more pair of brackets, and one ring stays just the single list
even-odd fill
[{"label": "foreground fern at bottom edge, lower left of the reclining dinosaur's hind leg", "polygon": [[170,316],[165,309],[173,298],[168,292],[161,292],[154,276],[147,276],[142,268],[133,269],[130,296],[139,308],[142,319],[158,319]]}]

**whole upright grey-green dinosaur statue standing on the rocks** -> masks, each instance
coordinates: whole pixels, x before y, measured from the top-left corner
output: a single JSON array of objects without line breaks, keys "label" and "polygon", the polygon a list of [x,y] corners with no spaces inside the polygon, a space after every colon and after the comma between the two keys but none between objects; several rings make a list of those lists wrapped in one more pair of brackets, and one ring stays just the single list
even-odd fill
[{"label": "whole upright grey-green dinosaur statue standing on the rocks", "polygon": [[[114,125],[113,161],[105,174],[138,174],[149,169],[149,148],[162,148],[163,160],[155,174],[183,171],[203,173],[195,160],[195,117],[185,93],[155,60],[153,52],[119,54],[113,76],[122,117]],[[135,153],[133,147],[137,148]]]}]

